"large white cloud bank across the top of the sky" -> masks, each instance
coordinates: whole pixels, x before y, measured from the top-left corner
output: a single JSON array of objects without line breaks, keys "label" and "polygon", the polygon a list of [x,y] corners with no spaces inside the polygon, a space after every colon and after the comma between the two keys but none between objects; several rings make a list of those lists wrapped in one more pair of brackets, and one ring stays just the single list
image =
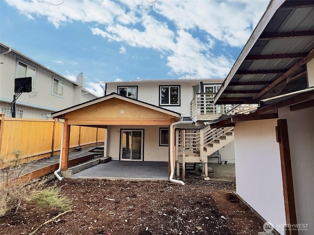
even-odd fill
[{"label": "large white cloud bank across the top of the sky", "polygon": [[[56,28],[74,21],[89,23],[93,35],[110,42],[157,50],[171,74],[192,77],[225,77],[235,60],[225,48],[244,46],[268,4],[268,0],[158,0],[154,8],[142,12],[138,5],[145,7],[147,0],[65,0],[58,6],[43,0],[6,2],[28,19],[47,18]],[[222,46],[217,54],[212,49],[218,44]],[[125,52],[121,46],[119,53]]]}]

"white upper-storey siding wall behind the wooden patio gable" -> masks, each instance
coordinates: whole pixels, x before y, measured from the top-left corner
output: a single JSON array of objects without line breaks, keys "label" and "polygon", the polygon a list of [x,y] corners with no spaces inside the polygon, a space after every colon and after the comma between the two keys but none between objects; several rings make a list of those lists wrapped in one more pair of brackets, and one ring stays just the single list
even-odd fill
[{"label": "white upper-storey siding wall behind the wooden patio gable", "polygon": [[[177,80],[159,80],[159,81],[134,81],[134,82],[112,82],[106,84],[106,94],[118,93],[118,86],[137,86],[137,99],[149,104],[159,106],[159,86],[180,85],[180,106],[160,106],[162,108],[182,114],[184,117],[190,117],[190,102],[193,99],[193,86],[199,85],[199,80],[191,81]],[[219,82],[218,82],[219,81]],[[221,84],[223,80],[203,80],[204,84]]]}]

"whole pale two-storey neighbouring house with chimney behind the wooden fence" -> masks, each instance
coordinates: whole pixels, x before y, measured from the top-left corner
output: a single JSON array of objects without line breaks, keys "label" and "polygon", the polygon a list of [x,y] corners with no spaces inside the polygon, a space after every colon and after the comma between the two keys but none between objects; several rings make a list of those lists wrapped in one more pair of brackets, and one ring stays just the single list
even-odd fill
[{"label": "whole pale two-storey neighbouring house with chimney behind the wooden fence", "polygon": [[6,117],[12,117],[14,81],[20,77],[32,77],[32,92],[17,99],[16,118],[49,119],[52,112],[96,98],[84,88],[82,73],[71,81],[0,43],[0,113]]}]

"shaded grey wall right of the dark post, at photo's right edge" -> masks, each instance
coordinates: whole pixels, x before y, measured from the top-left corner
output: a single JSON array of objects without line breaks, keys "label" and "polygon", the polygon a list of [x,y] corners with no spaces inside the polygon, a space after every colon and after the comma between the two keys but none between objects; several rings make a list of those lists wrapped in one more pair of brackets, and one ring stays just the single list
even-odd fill
[{"label": "shaded grey wall right of the dark post, at photo's right edge", "polygon": [[314,107],[290,112],[278,110],[287,119],[295,209],[298,224],[308,224],[299,235],[314,234]]}]

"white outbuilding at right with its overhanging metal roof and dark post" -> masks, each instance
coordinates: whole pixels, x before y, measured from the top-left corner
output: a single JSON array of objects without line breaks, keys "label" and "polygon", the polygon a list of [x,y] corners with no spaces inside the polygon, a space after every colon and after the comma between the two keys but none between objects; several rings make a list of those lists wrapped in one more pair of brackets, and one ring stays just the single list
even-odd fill
[{"label": "white outbuilding at right with its overhanging metal roof and dark post", "polygon": [[255,104],[210,125],[234,126],[236,193],[280,234],[314,234],[313,1],[270,1],[214,103]]}]

